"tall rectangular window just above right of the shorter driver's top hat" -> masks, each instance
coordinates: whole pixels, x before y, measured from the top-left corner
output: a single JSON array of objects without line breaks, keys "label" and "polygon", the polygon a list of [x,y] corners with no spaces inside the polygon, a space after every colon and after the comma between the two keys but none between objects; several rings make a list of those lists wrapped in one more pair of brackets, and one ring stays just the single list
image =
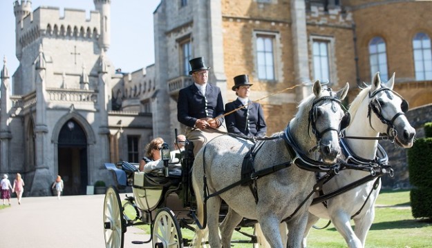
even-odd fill
[{"label": "tall rectangular window just above right of the shorter driver's top hat", "polygon": [[274,39],[274,35],[256,34],[256,67],[259,79],[275,80]]}]

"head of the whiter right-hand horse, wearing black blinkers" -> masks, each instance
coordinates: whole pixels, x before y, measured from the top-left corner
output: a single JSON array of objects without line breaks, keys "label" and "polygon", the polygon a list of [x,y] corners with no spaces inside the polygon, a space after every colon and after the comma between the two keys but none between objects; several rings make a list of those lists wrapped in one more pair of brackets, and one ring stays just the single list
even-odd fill
[{"label": "head of the whiter right-hand horse, wearing black blinkers", "polygon": [[381,81],[379,72],[373,76],[369,91],[369,123],[373,130],[394,138],[400,147],[409,148],[413,146],[415,130],[405,116],[408,102],[393,91],[394,85],[394,73],[387,83]]}]

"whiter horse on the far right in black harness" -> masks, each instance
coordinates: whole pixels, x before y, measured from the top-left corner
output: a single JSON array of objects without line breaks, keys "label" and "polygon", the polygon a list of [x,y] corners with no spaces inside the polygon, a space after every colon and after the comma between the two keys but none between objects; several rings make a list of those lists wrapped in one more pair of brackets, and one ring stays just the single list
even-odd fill
[{"label": "whiter horse on the far right in black harness", "polygon": [[[376,158],[378,140],[357,139],[356,137],[375,137],[386,134],[395,139],[400,147],[408,148],[413,145],[415,130],[408,123],[404,112],[408,110],[408,103],[393,91],[395,74],[387,83],[379,79],[379,72],[373,77],[369,87],[361,90],[351,103],[350,112],[352,121],[345,130],[345,141],[356,159],[370,161]],[[341,189],[345,185],[365,178],[370,172],[357,169],[344,169],[339,175],[323,185],[323,193]],[[318,203],[309,207],[310,216],[306,227],[303,247],[306,247],[306,238],[310,227],[317,223],[319,218],[330,219],[337,231],[344,236],[348,247],[364,247],[366,235],[375,218],[375,200],[379,194],[381,183],[377,178],[370,180],[355,189],[327,200],[327,207]],[[364,207],[361,207],[364,205]],[[359,214],[356,214],[359,211]],[[355,230],[351,228],[350,219],[353,217]]]}]

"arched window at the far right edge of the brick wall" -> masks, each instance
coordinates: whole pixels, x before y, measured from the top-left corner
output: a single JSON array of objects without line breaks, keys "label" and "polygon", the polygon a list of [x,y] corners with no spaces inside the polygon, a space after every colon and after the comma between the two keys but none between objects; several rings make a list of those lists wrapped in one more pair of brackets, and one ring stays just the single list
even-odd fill
[{"label": "arched window at the far right edge of the brick wall", "polygon": [[422,32],[413,38],[415,80],[432,79],[431,39]]}]

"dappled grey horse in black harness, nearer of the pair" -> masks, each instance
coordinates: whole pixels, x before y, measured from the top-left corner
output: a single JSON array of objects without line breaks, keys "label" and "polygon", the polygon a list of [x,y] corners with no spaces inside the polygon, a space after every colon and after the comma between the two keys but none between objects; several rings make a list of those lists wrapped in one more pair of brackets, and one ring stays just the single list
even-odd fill
[{"label": "dappled grey horse in black harness, nearer of the pair", "polygon": [[[225,135],[214,138],[200,149],[192,169],[192,184],[198,220],[199,223],[207,222],[211,247],[221,246],[218,213],[222,200],[230,209],[229,217],[220,227],[223,247],[230,247],[232,231],[243,217],[258,220],[272,247],[283,247],[279,224],[286,221],[292,230],[288,237],[290,247],[301,246],[312,200],[309,196],[312,196],[310,192],[314,185],[314,172],[296,166],[299,157],[292,155],[292,150],[287,147],[288,142],[282,136],[292,136],[299,151],[306,154],[307,159],[317,158],[318,154],[310,151],[318,147],[324,163],[335,163],[340,152],[340,125],[346,122],[340,100],[345,98],[348,87],[347,83],[335,94],[330,89],[322,90],[319,81],[315,82],[312,89],[314,94],[301,102],[287,130],[274,134],[272,140],[261,141],[258,143],[260,145],[256,145],[261,148],[254,156],[255,171],[259,174],[263,169],[274,170],[254,181],[256,198],[250,187],[236,185],[224,190],[241,180],[243,157],[252,143]],[[276,169],[279,165],[285,165],[285,168]],[[290,220],[287,220],[289,217]],[[203,230],[197,230],[195,245],[201,245],[202,234]]]}]

